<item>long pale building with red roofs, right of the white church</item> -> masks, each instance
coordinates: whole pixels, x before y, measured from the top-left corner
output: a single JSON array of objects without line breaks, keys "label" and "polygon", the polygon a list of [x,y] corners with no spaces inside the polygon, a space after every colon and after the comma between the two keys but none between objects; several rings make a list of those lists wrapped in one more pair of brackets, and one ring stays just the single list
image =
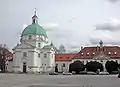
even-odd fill
[{"label": "long pale building with red roofs, right of the white church", "polygon": [[[105,63],[108,60],[116,61],[120,64],[120,47],[119,46],[103,46],[103,42],[100,41],[99,46],[90,46],[82,48],[76,54],[56,54],[55,60],[58,64],[58,70],[68,71],[69,64],[80,60],[84,64],[90,61],[97,61],[103,64],[105,70]],[[63,70],[64,66],[64,70]]]}]

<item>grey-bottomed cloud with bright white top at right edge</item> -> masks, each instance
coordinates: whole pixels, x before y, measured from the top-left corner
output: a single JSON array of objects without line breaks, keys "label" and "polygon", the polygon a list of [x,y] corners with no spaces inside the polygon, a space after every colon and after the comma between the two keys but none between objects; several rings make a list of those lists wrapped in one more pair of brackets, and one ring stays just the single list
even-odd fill
[{"label": "grey-bottomed cloud with bright white top at right edge", "polygon": [[118,31],[120,30],[120,21],[118,19],[111,19],[104,24],[96,25],[96,30]]}]

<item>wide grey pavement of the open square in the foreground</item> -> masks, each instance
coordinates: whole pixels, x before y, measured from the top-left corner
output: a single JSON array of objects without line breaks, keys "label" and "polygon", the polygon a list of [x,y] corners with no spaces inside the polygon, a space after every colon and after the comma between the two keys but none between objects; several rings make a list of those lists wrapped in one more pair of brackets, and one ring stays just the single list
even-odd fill
[{"label": "wide grey pavement of the open square in the foreground", "polygon": [[0,87],[120,87],[117,75],[0,74]]}]

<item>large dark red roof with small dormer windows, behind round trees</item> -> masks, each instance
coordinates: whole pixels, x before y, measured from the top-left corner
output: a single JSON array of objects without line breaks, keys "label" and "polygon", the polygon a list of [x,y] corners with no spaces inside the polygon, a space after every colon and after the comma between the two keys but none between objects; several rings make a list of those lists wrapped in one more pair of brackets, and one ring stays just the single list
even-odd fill
[{"label": "large dark red roof with small dormer windows, behind round trees", "polygon": [[100,53],[110,58],[120,58],[120,47],[118,46],[104,46],[102,48],[96,47],[84,47],[74,58],[93,58]]}]

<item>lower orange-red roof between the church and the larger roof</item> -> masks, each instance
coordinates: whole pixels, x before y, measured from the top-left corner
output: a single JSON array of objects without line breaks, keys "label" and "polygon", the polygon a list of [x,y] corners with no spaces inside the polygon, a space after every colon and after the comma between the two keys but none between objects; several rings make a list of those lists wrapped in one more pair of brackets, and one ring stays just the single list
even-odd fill
[{"label": "lower orange-red roof between the church and the larger roof", "polygon": [[55,54],[56,61],[71,61],[76,54]]}]

